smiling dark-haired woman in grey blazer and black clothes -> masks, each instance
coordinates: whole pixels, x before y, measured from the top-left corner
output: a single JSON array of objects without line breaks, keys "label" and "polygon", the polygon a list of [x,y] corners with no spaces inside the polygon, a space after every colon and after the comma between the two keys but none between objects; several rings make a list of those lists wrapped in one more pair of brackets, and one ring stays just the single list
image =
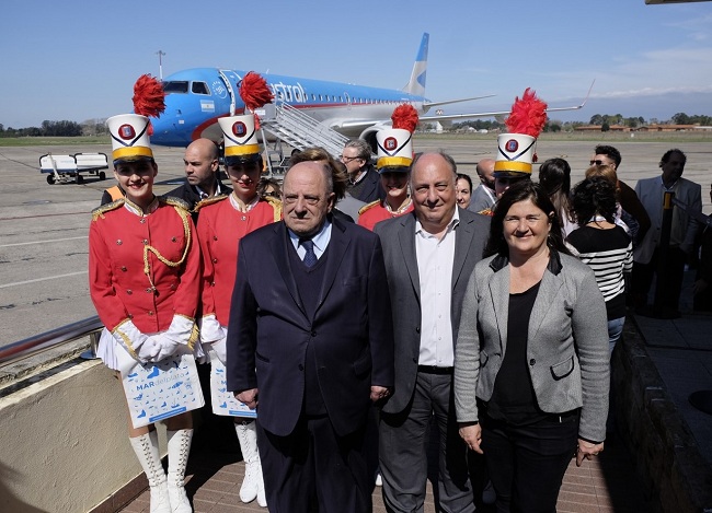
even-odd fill
[{"label": "smiling dark-haired woman in grey blazer and black clothes", "polygon": [[[608,329],[594,272],[570,256],[530,180],[497,201],[455,354],[460,435],[485,454],[497,511],[553,512],[564,473],[604,450]],[[512,315],[510,315],[512,313]]]}]

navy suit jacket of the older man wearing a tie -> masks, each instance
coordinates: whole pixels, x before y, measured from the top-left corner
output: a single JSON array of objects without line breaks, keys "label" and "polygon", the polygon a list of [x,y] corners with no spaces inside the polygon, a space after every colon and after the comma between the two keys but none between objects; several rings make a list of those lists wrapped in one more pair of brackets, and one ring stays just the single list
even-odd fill
[{"label": "navy suit jacket of the older man wearing a tie", "polygon": [[259,388],[257,416],[286,436],[302,411],[305,357],[313,345],[318,380],[338,435],[366,423],[371,385],[393,385],[393,326],[378,236],[332,218],[331,241],[313,318],[290,270],[284,221],[240,241],[228,328],[228,389]]}]

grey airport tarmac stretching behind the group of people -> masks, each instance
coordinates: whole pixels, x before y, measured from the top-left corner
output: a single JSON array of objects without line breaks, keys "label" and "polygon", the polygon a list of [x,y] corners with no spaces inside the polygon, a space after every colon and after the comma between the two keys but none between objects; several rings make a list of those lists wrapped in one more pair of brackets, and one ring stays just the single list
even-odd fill
[{"label": "grey airport tarmac stretching behind the group of people", "polygon": [[[631,139],[611,143],[623,155],[619,177],[630,186],[659,174],[657,164],[663,153],[680,148],[688,155],[685,177],[702,185],[703,211],[712,210],[707,193],[712,180],[709,142]],[[576,183],[583,178],[594,145],[593,141],[542,137],[537,153],[540,162],[553,156],[566,159]],[[480,159],[493,156],[496,136],[425,136],[416,138],[414,147],[416,151],[441,149],[450,153],[459,171],[475,177],[476,183],[474,166]],[[82,185],[48,185],[47,175],[39,172],[39,156],[49,151],[111,155],[111,145],[0,148],[0,347],[95,315],[87,273],[90,212],[115,180],[84,175]],[[183,179],[183,149],[157,147],[153,151],[159,166],[156,191],[164,194]]]}]

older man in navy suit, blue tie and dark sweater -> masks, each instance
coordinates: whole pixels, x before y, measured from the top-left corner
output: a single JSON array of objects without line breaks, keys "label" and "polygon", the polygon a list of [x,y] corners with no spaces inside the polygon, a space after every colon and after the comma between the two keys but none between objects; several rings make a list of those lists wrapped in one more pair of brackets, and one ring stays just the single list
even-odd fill
[{"label": "older man in navy suit, blue tie and dark sweater", "polygon": [[331,172],[291,167],[284,221],[242,238],[228,389],[257,408],[271,512],[371,511],[366,434],[393,386],[393,328],[378,236],[330,214]]}]

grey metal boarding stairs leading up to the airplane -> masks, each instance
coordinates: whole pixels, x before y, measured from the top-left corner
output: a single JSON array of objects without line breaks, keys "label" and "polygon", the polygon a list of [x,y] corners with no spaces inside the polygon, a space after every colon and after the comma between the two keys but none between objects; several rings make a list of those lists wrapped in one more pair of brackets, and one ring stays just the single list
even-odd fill
[{"label": "grey metal boarding stairs leading up to the airplane", "polygon": [[341,155],[348,138],[289,104],[268,104],[257,109],[260,124],[269,135],[292,148],[322,147],[332,156]]}]

